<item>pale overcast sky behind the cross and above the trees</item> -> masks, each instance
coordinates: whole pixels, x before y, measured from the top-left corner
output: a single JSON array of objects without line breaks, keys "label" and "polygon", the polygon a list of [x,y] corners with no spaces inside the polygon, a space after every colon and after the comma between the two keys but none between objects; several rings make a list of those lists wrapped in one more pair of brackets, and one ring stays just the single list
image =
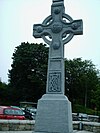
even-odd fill
[{"label": "pale overcast sky behind the cross and above the trees", "polygon": [[[32,36],[33,24],[51,14],[52,0],[0,0],[0,79],[8,83],[15,47],[45,43]],[[64,57],[91,60],[100,69],[100,0],[64,0],[65,13],[83,20],[83,35],[65,44]]]}]

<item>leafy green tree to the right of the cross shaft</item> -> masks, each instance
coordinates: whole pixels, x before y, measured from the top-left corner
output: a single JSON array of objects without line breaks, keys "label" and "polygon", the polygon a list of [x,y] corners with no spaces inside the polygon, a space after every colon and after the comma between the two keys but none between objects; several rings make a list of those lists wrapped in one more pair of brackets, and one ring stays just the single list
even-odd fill
[{"label": "leafy green tree to the right of the cross shaft", "polygon": [[65,61],[66,95],[72,104],[81,104],[92,107],[92,91],[98,84],[98,70],[90,60],[81,58]]}]

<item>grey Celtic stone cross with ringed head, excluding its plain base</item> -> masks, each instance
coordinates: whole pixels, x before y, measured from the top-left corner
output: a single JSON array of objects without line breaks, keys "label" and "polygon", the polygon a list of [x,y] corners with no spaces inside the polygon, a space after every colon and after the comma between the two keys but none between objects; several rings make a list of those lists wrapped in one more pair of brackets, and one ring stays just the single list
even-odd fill
[{"label": "grey Celtic stone cross with ringed head, excluding its plain base", "polygon": [[47,94],[64,94],[64,44],[83,33],[82,20],[65,14],[64,0],[53,0],[51,15],[42,24],[34,24],[33,36],[49,44]]}]

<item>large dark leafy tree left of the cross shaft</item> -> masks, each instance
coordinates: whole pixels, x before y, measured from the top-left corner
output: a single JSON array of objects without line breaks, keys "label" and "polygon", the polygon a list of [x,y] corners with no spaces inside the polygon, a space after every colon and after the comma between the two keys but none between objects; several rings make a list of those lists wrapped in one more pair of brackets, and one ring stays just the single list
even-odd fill
[{"label": "large dark leafy tree left of the cross shaft", "polygon": [[48,47],[45,44],[22,43],[13,53],[9,83],[15,104],[36,102],[45,93]]}]

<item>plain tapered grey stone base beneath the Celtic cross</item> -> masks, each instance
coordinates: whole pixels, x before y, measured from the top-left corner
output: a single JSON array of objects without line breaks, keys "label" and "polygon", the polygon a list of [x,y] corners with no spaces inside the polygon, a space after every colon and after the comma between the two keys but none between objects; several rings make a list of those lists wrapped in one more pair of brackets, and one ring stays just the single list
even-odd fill
[{"label": "plain tapered grey stone base beneath the Celtic cross", "polygon": [[65,95],[45,94],[38,101],[35,132],[73,132],[71,103]]}]

